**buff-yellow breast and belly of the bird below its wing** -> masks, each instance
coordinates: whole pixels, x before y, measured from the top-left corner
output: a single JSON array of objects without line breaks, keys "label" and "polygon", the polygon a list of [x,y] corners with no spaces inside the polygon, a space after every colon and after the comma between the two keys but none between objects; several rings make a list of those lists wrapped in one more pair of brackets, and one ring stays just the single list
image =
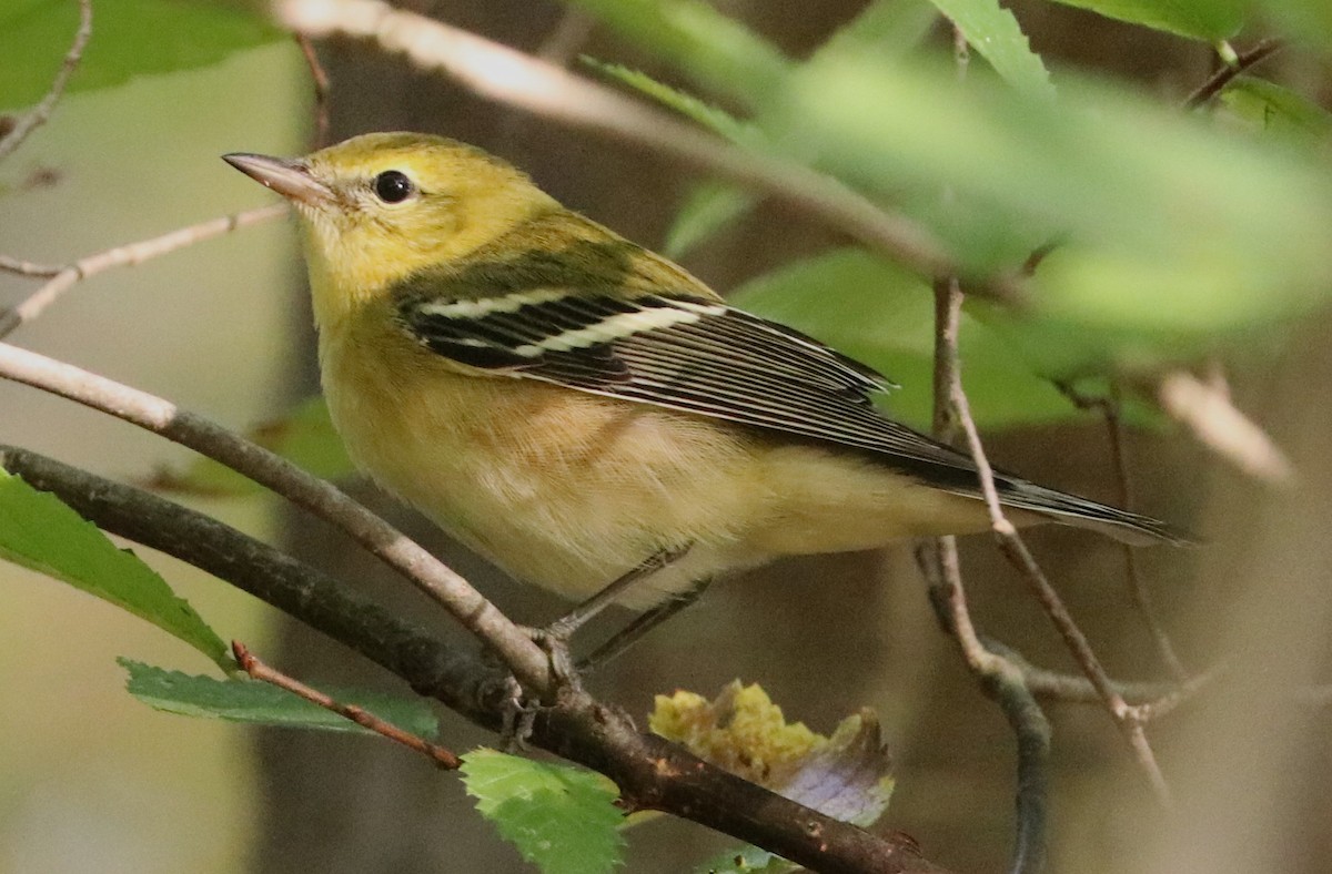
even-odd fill
[{"label": "buff-yellow breast and belly of the bird below its wing", "polygon": [[[979,531],[979,502],[864,459],[530,380],[321,350],[333,420],[376,482],[521,581],[583,599],[661,549],[683,559],[622,600],[645,609],[782,555]],[[354,388],[348,390],[352,386]]]}]

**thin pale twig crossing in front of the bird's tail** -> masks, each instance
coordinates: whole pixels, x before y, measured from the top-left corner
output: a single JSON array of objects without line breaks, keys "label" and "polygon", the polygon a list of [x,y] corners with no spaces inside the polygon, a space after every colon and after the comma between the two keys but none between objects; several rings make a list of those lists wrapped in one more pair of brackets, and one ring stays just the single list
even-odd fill
[{"label": "thin pale twig crossing in front of the bird's tail", "polygon": [[984,447],[980,444],[980,434],[976,431],[975,419],[971,418],[971,404],[967,402],[967,395],[962,390],[960,380],[952,386],[952,404],[956,408],[962,430],[967,435],[967,446],[976,464],[980,490],[984,495],[986,506],[990,508],[990,523],[995,540],[999,543],[999,549],[1022,572],[1032,595],[1036,596],[1040,607],[1046,611],[1046,616],[1050,617],[1050,621],[1059,631],[1060,637],[1064,639],[1064,645],[1068,647],[1078,666],[1091,680],[1096,692],[1106,702],[1106,708],[1115,717],[1115,722],[1134,752],[1134,757],[1147,774],[1158,801],[1163,806],[1169,807],[1172,803],[1169,786],[1166,784],[1166,777],[1156,764],[1156,754],[1147,742],[1142,714],[1130,706],[1115,689],[1110,676],[1100,664],[1100,658],[1096,657],[1091,644],[1087,641],[1087,636],[1078,628],[1059,593],[1050,585],[1046,573],[1031,556],[1027,544],[1018,536],[1018,529],[1014,528],[1012,523],[1003,513],[1003,508],[999,504],[999,492],[995,490],[994,471],[990,467],[990,460],[986,458]]}]

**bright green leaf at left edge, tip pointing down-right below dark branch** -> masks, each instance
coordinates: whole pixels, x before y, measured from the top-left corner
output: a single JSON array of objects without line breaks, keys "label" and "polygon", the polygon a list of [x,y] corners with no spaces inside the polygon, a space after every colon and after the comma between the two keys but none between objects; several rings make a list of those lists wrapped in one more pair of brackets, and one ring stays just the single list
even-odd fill
[{"label": "bright green leaf at left edge, tip pointing down-right below dark branch", "polygon": [[119,549],[53,495],[0,470],[0,559],[45,573],[145,619],[224,669],[226,645],[156,571]]}]

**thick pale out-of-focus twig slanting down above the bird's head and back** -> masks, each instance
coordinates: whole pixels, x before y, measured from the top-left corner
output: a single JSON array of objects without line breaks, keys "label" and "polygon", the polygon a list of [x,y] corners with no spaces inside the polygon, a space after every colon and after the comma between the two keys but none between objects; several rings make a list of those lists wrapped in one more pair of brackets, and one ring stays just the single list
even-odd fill
[{"label": "thick pale out-of-focus twig slanting down above the bird's head and back", "polygon": [[[928,230],[840,182],[799,164],[734,148],[658,109],[569,71],[381,0],[277,0],[278,17],[298,33],[374,40],[422,69],[446,73],[477,94],[547,118],[647,146],[713,176],[802,208],[920,275],[959,273]],[[1016,279],[970,289],[1020,302]]]}]

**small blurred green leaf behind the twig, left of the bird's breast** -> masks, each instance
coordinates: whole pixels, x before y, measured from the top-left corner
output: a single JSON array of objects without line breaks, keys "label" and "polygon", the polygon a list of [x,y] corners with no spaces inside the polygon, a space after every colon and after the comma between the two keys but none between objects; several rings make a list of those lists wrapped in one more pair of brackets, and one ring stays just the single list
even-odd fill
[{"label": "small blurred green leaf behind the twig, left of the bird's breast", "polygon": [[[341,479],[356,472],[320,395],[306,398],[285,418],[266,422],[246,436],[321,479]],[[152,486],[233,498],[266,494],[258,483],[209,458],[196,459],[180,474],[159,472]]]}]

